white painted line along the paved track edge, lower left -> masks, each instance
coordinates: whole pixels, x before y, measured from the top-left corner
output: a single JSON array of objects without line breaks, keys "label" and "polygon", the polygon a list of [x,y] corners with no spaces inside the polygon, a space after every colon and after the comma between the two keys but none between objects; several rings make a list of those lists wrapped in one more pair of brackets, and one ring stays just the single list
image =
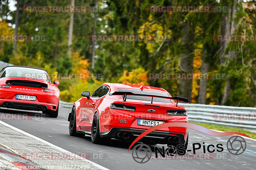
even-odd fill
[{"label": "white painted line along the paved track edge, lower left", "polygon": [[[5,123],[5,122],[3,122],[3,121],[0,121],[0,123],[2,123],[2,124],[5,125],[5,126],[8,126],[9,128],[12,128],[12,129],[14,129],[14,130],[16,130],[16,131],[18,131],[18,132],[20,132],[20,133],[23,133],[24,135],[27,135],[27,136],[29,136],[29,137],[32,137],[32,138],[36,139],[36,140],[39,140],[40,142],[43,142],[44,144],[48,144],[48,145],[50,145],[50,146],[52,146],[52,147],[54,147],[54,148],[56,148],[56,149],[59,149],[61,152],[72,153],[72,152],[69,152],[69,151],[67,151],[67,150],[65,150],[65,149],[63,149],[63,148],[60,148],[59,146],[56,146],[56,145],[54,145],[54,144],[51,144],[51,143],[49,143],[49,142],[47,142],[47,141],[45,141],[45,140],[43,140],[43,139],[41,139],[41,138],[39,138],[39,137],[36,137],[36,136],[31,135],[31,134],[29,134],[29,133],[27,133],[27,132],[24,132],[23,130],[20,130],[20,129],[18,129],[18,128],[15,128],[15,127],[13,127],[12,125],[9,125],[9,124],[7,124],[7,123]],[[73,154],[73,153],[72,153],[72,154]],[[78,155],[76,155],[76,156],[77,156],[77,158],[80,157],[80,156],[78,156]],[[84,160],[84,159],[82,159],[82,160]],[[94,165],[94,166],[96,166],[96,167],[98,167],[98,168],[100,168],[100,169],[109,170],[108,168],[106,168],[106,167],[104,167],[104,166],[101,166],[101,165],[99,165],[99,164],[96,164],[96,163],[94,163],[94,162],[92,162],[92,161],[90,161],[90,160],[88,160],[88,159],[86,159],[86,160],[84,160],[84,161],[86,161],[86,162],[88,162],[88,163],[91,163],[92,165]]]}]

